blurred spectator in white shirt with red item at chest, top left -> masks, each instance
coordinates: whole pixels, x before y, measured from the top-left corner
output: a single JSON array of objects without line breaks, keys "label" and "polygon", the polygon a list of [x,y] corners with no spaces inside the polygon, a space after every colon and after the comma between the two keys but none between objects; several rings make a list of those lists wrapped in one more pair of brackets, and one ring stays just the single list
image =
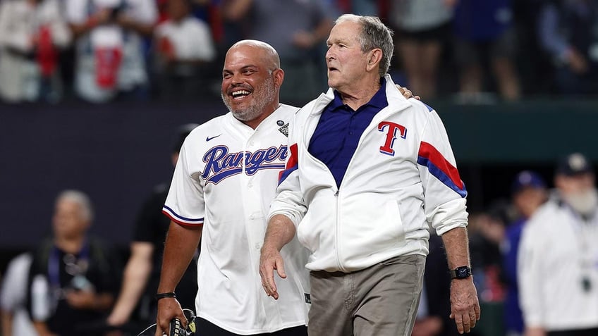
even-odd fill
[{"label": "blurred spectator in white shirt with red item at chest, top left", "polygon": [[138,98],[147,88],[144,38],[157,21],[155,1],[65,0],[76,38],[75,91],[86,101],[121,94]]}]

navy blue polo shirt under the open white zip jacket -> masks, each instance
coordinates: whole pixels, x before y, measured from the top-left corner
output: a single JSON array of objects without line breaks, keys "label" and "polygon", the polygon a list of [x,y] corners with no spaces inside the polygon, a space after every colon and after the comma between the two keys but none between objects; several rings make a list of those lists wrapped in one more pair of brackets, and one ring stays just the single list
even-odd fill
[{"label": "navy blue polo shirt under the open white zip jacket", "polygon": [[307,150],[328,166],[336,187],[341,186],[363,131],[376,113],[388,105],[384,78],[380,78],[380,89],[374,97],[357,111],[343,104],[341,95],[334,91],[334,100],[324,108]]}]

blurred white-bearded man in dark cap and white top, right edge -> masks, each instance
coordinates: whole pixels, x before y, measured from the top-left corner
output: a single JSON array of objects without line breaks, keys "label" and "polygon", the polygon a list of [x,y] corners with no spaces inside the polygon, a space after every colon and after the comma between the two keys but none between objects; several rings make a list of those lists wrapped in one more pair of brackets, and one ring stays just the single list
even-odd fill
[{"label": "blurred white-bearded man in dark cap and white top, right edge", "polygon": [[579,153],[559,161],[556,190],[528,220],[518,256],[526,336],[598,335],[598,192]]}]

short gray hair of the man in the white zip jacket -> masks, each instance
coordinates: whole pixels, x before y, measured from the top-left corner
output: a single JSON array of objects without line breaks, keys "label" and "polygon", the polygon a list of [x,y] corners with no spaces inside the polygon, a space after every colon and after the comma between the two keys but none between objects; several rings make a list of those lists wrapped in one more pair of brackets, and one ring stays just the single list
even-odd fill
[{"label": "short gray hair of the man in the white zip jacket", "polygon": [[393,31],[384,25],[376,16],[360,16],[355,14],[343,14],[334,23],[351,21],[359,23],[362,27],[358,41],[361,51],[366,52],[373,49],[382,49],[382,60],[380,60],[379,75],[383,77],[388,73],[393,56]]}]

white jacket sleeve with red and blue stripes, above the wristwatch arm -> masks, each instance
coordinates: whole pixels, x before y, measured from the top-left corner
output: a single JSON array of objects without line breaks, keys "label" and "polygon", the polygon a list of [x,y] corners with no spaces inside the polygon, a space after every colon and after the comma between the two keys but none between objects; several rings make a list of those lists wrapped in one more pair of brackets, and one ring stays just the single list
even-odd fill
[{"label": "white jacket sleeve with red and blue stripes, above the wristwatch arm", "polygon": [[436,111],[422,105],[429,109],[429,116],[420,138],[417,168],[424,189],[426,218],[437,234],[443,235],[468,224],[467,191],[442,120]]}]

